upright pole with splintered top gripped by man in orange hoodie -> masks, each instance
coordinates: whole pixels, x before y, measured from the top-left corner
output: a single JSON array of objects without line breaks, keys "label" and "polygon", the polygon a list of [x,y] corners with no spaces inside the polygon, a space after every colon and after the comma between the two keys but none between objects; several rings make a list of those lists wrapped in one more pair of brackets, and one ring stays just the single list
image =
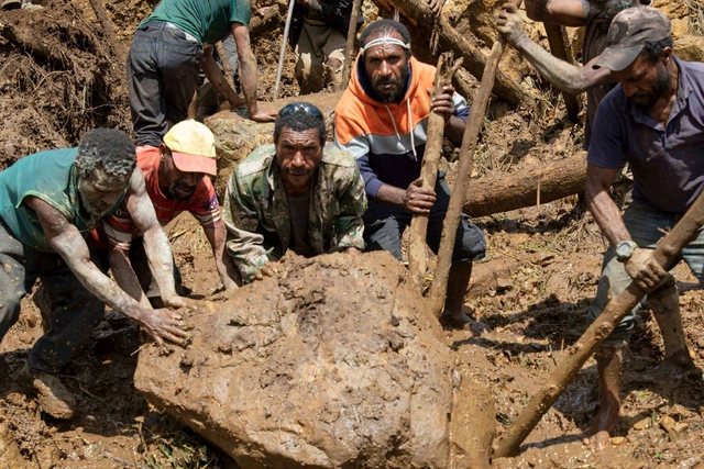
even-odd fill
[{"label": "upright pole with splintered top gripped by man in orange hoodie", "polygon": [[[452,83],[452,77],[457,72],[462,58],[452,64],[454,54],[446,52],[438,59],[438,71],[432,94],[442,93],[442,88]],[[438,178],[438,165],[442,155],[442,138],[444,134],[444,119],[435,111],[428,118],[428,142],[426,153],[422,157],[422,168],[420,169],[421,187],[433,189]],[[428,215],[415,214],[410,221],[410,236],[408,245],[408,268],[414,279],[415,287],[421,291],[422,280],[426,276],[426,235],[428,233]]]}]

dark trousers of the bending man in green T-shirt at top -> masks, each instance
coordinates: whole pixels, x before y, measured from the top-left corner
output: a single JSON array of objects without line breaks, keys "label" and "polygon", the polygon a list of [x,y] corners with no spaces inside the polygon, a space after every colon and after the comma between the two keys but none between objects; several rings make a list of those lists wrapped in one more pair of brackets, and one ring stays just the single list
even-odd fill
[{"label": "dark trousers of the bending man in green T-shirt at top", "polygon": [[150,21],[134,33],[128,56],[128,91],[138,145],[160,146],[168,121],[188,116],[202,44],[170,23]]}]

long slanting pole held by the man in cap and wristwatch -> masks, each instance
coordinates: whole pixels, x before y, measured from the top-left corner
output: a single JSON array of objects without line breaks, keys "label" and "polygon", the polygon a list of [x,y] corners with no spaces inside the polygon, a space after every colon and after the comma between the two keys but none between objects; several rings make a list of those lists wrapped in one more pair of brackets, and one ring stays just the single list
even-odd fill
[{"label": "long slanting pole held by the man in cap and wristwatch", "polygon": [[[690,210],[674,228],[658,244],[653,256],[663,268],[679,256],[680,252],[704,226],[704,193],[694,201]],[[548,382],[530,399],[524,412],[514,420],[506,434],[499,439],[494,457],[502,458],[518,454],[518,447],[536,427],[542,415],[552,406],[560,394],[576,377],[582,366],[596,347],[610,335],[618,323],[642,300],[646,292],[635,282],[612,300],[604,312],[582,334],[582,337],[562,357]]]}]

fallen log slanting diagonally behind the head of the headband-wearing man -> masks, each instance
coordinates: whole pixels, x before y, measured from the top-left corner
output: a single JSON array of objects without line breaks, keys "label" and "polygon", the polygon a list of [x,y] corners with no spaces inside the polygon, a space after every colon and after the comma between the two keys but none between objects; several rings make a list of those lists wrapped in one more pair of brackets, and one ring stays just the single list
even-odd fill
[{"label": "fallen log slanting diagonally behind the head of the headband-wearing man", "polygon": [[[430,37],[432,25],[436,23],[435,15],[426,0],[374,0],[378,7],[387,10],[398,9],[414,26],[428,31]],[[438,51],[452,51],[454,56],[464,59],[463,67],[477,79],[481,79],[486,66],[486,57],[471,42],[464,38],[444,18],[437,20]],[[514,81],[507,74],[498,69],[494,82],[493,92],[502,100],[513,105],[518,105],[528,99],[528,93]]]}]

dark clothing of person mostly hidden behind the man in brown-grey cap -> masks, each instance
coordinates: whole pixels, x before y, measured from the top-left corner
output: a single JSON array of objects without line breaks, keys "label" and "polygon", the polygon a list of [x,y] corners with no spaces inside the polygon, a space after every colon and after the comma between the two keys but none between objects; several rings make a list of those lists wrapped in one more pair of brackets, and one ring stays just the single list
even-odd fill
[{"label": "dark clothing of person mostly hidden behind the man in brown-grey cap", "polygon": [[[606,48],[606,33],[608,32],[610,19],[605,18],[601,9],[593,8],[590,0],[582,0],[582,7],[584,20],[586,21],[584,40],[582,41],[582,64],[586,65],[594,57],[602,55]],[[584,149],[590,147],[596,108],[615,86],[616,83],[605,83],[586,90],[586,119],[584,119],[584,141],[582,143]]]}]

